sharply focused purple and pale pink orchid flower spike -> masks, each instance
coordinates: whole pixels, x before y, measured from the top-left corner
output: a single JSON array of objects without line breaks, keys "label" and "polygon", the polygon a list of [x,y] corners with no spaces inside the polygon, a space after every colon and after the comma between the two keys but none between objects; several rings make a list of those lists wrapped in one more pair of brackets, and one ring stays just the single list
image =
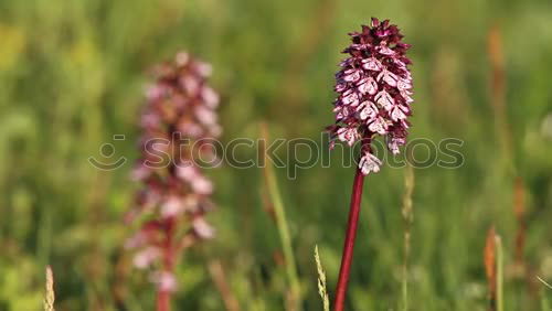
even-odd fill
[{"label": "sharply focused purple and pale pink orchid flower spike", "polygon": [[352,146],[362,141],[359,168],[363,174],[378,172],[381,161],[372,153],[370,142],[381,135],[393,154],[406,142],[407,117],[412,115],[412,76],[405,55],[411,46],[389,20],[372,18],[362,32],[350,33],[352,43],[343,53],[336,74],[336,125],[329,127],[331,146],[341,140]]}]

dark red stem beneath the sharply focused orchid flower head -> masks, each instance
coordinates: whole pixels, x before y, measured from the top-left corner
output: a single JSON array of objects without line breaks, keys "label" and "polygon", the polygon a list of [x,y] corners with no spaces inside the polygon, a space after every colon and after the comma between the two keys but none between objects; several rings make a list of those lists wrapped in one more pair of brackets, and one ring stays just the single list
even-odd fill
[{"label": "dark red stem beneath the sharply focused orchid flower head", "polygon": [[336,289],[336,299],[333,302],[335,311],[342,311],[347,294],[347,285],[351,271],[352,255],[354,249],[354,238],[357,237],[357,227],[359,224],[360,201],[362,199],[362,186],[364,184],[364,174],[357,168],[354,183],[352,185],[351,206],[349,210],[349,221],[347,223],[347,235],[341,257],[341,268],[339,270],[338,287]]}]

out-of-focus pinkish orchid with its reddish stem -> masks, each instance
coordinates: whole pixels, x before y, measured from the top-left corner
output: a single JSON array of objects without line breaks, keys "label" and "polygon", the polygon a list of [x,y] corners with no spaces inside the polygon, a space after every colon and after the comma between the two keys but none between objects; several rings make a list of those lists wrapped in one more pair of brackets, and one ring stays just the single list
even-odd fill
[{"label": "out-of-focus pinkish orchid with its reddish stem", "polygon": [[141,227],[126,246],[137,249],[136,267],[153,267],[157,310],[167,311],[177,289],[174,266],[180,254],[214,235],[204,219],[213,205],[213,185],[199,161],[214,157],[209,139],[221,128],[215,112],[219,96],[205,82],[210,65],[182,52],[155,73],[157,82],[147,90],[140,122],[141,158],[132,174],[142,187],[126,218],[138,218]]}]

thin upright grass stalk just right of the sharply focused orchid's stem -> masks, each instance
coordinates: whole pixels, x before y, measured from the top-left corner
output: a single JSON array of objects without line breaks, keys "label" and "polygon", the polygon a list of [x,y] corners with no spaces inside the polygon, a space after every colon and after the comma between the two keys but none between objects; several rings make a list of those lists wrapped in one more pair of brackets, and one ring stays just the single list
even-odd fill
[{"label": "thin upright grass stalk just right of the sharply focused orchid's stem", "polygon": [[408,261],[411,253],[411,229],[414,221],[414,210],[412,205],[412,193],[414,191],[414,171],[412,167],[406,168],[404,175],[404,197],[403,197],[403,221],[404,221],[404,262],[403,262],[403,310],[408,310]]}]

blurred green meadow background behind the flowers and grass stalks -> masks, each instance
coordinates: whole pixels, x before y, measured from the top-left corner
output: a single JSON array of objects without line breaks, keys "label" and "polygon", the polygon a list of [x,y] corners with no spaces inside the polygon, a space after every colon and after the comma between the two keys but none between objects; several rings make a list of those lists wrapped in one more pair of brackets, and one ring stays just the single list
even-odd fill
[{"label": "blurred green meadow background behind the flowers and grass stalks", "polygon": [[[153,286],[123,247],[135,229],[123,215],[137,189],[129,172],[153,64],[185,50],[213,65],[223,142],[258,138],[261,122],[272,139],[319,140],[333,121],[347,33],[372,15],[413,44],[411,139],[464,141],[460,168],[414,169],[410,310],[488,309],[482,250],[492,225],[506,310],[551,310],[552,289],[537,279],[552,280],[550,0],[1,0],[0,310],[41,310],[46,265],[56,310],[153,310]],[[88,163],[107,142],[129,159],[123,168]],[[308,158],[298,150],[295,161]],[[322,309],[315,245],[330,294],[337,281],[353,179],[340,162],[293,180],[276,170],[304,310]],[[220,265],[240,310],[285,310],[290,262],[263,169],[209,174],[217,236],[183,255],[173,309],[225,310]],[[348,310],[404,307],[404,174],[383,168],[367,179]]]}]

